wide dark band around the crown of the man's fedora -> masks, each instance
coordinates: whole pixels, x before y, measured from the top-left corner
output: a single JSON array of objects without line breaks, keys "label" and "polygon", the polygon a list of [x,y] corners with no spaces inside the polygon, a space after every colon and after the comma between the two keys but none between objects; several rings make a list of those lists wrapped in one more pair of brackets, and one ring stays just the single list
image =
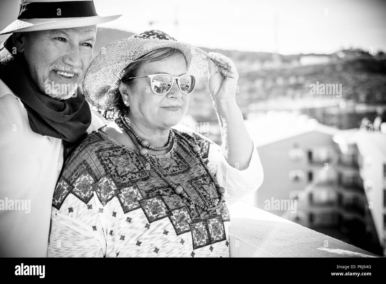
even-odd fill
[{"label": "wide dark band around the crown of the man's fedora", "polygon": [[97,15],[94,1],[33,2],[20,5],[17,19],[78,18]]}]

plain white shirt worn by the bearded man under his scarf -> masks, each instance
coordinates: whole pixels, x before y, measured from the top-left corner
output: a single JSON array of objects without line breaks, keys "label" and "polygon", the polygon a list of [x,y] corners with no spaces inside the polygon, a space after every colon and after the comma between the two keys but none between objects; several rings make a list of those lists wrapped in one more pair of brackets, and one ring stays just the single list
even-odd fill
[{"label": "plain white shirt worn by the bearded man under his scarf", "polygon": [[[87,133],[104,124],[91,111]],[[63,140],[34,133],[22,101],[0,80],[0,257],[47,257]]]}]

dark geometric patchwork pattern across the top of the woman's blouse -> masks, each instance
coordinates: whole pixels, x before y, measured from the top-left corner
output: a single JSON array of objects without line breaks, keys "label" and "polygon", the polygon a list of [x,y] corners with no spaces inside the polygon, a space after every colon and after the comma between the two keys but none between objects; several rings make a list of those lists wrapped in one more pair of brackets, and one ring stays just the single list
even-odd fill
[{"label": "dark geometric patchwork pattern across the top of the woman's blouse", "polygon": [[[178,132],[200,145],[201,155],[208,158],[210,143],[207,140],[193,133]],[[152,156],[156,167],[172,182],[183,186],[194,201],[205,206],[217,204],[218,194],[205,169],[189,153],[190,146],[178,136],[174,138],[171,153]],[[193,250],[226,240],[224,222],[230,221],[230,217],[225,203],[210,212],[192,206],[175,194],[153,168],[146,167],[138,153],[112,141],[103,131],[90,134],[70,160],[73,167],[64,172],[54,191],[52,206],[56,209],[60,210],[70,193],[88,204],[95,192],[102,206],[117,197],[124,214],[141,208],[147,218],[146,226],[168,218],[176,235],[191,233]],[[192,254],[194,256],[194,252]]]}]

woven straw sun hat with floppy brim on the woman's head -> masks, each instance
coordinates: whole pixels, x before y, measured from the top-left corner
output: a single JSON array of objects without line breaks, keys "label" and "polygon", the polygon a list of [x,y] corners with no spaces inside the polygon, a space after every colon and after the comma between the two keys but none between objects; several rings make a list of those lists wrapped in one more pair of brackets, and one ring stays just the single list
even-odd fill
[{"label": "woven straw sun hat with floppy brim on the woman's head", "polygon": [[124,68],[142,55],[160,48],[181,51],[188,63],[188,74],[194,75],[196,82],[208,74],[206,58],[210,56],[205,51],[179,42],[162,31],[149,30],[128,39],[113,41],[102,48],[91,62],[83,80],[86,99],[98,109],[111,109]]}]

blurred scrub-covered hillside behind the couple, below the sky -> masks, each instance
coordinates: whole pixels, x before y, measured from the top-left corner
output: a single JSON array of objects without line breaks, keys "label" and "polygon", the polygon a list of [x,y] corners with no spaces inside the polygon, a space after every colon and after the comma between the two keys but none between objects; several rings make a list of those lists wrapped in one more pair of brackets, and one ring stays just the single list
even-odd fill
[{"label": "blurred scrub-covered hillside behind the couple, below the sky", "polygon": [[[94,54],[104,45],[132,34],[116,29],[100,29]],[[342,84],[341,99],[344,100],[386,104],[386,58],[383,53],[371,56],[362,50],[349,49],[334,54],[281,55],[202,49],[206,52],[223,53],[234,60],[240,74],[237,102],[244,115],[254,111],[253,105],[267,101],[280,105],[288,100],[296,103],[337,99],[335,95],[310,95],[310,84],[316,82]],[[204,78],[197,85],[194,94],[190,95],[188,114],[196,121],[217,120],[207,87],[207,78]]]}]

